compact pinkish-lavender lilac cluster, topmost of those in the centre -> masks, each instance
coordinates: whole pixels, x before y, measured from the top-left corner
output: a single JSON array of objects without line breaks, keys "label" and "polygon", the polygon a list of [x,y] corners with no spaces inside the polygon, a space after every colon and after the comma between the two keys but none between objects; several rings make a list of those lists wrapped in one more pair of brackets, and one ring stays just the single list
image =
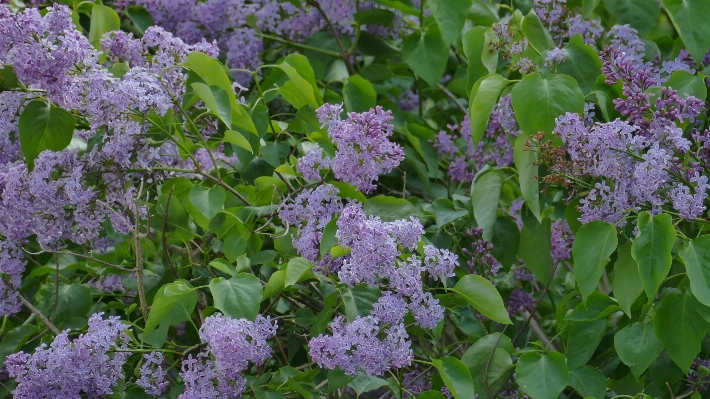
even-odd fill
[{"label": "compact pinkish-lavender lilac cluster, topmost of those in the centre", "polygon": [[342,104],[324,104],[316,110],[337,150],[331,158],[318,145],[313,146],[299,171],[315,178],[321,169],[330,168],[336,179],[372,192],[377,188],[374,182],[378,176],[391,172],[404,159],[402,147],[388,139],[394,129],[389,123],[394,119],[392,112],[377,106],[367,112],[350,112],[345,120],[341,119],[341,112]]}]

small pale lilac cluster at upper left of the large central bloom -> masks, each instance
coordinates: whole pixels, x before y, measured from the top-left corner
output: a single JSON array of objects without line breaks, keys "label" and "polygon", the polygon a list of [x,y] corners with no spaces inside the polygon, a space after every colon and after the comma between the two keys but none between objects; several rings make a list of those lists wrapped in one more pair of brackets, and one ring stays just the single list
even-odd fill
[{"label": "small pale lilac cluster at upper left of the large central bloom", "polygon": [[292,237],[293,247],[298,254],[311,262],[317,262],[323,229],[333,215],[342,210],[338,188],[323,184],[314,189],[303,190],[293,202],[284,201],[279,207],[279,217],[298,228],[297,234]]}]

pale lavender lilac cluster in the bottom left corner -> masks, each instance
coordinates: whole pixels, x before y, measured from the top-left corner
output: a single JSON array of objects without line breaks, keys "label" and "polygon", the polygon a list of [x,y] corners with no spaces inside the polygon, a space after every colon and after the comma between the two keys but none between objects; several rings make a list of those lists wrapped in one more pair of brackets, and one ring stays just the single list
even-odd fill
[{"label": "pale lavender lilac cluster in the bottom left corner", "polygon": [[97,313],[89,319],[89,330],[74,340],[68,330],[57,335],[52,344],[40,345],[33,354],[15,353],[5,367],[17,381],[12,392],[23,399],[101,398],[113,393],[123,377],[128,352],[128,325],[118,317],[103,319]]}]

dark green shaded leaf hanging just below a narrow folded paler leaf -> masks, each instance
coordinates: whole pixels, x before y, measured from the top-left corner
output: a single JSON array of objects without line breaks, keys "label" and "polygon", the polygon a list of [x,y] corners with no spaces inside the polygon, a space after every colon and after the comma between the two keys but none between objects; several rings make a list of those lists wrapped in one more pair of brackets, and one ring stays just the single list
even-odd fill
[{"label": "dark green shaded leaf hanging just below a narrow folded paler leaf", "polygon": [[549,218],[538,223],[536,219],[524,220],[523,229],[520,230],[520,245],[518,255],[523,259],[528,269],[538,281],[547,283],[552,277],[552,244],[550,242]]}]

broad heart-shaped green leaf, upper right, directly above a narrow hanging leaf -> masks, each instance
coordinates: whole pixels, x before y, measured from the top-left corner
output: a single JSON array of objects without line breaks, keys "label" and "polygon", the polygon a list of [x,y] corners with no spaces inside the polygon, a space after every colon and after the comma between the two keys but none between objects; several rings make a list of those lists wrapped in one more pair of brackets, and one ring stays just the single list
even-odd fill
[{"label": "broad heart-shaped green leaf, upper right, directly above a narrow hanging leaf", "polygon": [[567,112],[580,115],[584,112],[584,94],[577,81],[567,75],[547,78],[539,73],[525,75],[513,88],[512,102],[515,118],[528,135],[538,132],[549,135],[555,128],[555,118]]}]

